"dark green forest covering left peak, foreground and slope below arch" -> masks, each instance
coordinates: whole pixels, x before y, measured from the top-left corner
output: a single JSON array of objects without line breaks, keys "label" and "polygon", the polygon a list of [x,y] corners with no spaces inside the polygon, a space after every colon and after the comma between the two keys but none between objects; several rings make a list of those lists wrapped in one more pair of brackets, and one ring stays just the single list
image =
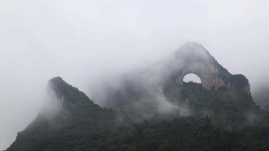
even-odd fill
[{"label": "dark green forest covering left peak, foreground and slope below arch", "polygon": [[192,116],[156,114],[133,122],[60,77],[50,86],[64,100],[57,114],[41,111],[6,151],[269,151],[268,112],[244,91],[169,85],[165,96],[185,104]]}]

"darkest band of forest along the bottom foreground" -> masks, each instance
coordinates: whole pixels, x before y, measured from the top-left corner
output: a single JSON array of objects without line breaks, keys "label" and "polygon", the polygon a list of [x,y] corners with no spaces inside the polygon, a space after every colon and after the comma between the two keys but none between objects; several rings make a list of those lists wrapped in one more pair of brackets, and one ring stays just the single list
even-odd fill
[{"label": "darkest band of forest along the bottom foreground", "polygon": [[[268,151],[269,128],[227,131],[209,118],[182,117],[99,127],[95,131],[33,134],[17,137],[7,151]],[[50,134],[46,134],[50,132]],[[28,132],[30,133],[30,132]],[[48,137],[49,136],[49,137]],[[29,144],[25,144],[31,139]]]}]

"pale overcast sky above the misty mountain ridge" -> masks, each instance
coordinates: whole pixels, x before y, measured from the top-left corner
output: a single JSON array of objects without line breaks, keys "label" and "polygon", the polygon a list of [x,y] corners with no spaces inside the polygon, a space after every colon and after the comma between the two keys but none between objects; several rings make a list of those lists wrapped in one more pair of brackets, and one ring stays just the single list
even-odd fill
[{"label": "pale overcast sky above the misty mountain ridge", "polygon": [[268,83],[269,1],[0,0],[0,150],[35,118],[51,77],[90,95],[186,41],[252,88]]}]

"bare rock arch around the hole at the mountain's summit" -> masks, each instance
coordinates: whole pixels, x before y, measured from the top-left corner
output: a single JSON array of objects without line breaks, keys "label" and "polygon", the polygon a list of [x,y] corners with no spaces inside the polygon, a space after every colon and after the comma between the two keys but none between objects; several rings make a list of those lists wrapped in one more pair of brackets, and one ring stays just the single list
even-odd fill
[{"label": "bare rock arch around the hole at the mountain's summit", "polygon": [[179,64],[172,74],[177,83],[182,84],[183,77],[192,73],[200,77],[203,88],[207,90],[228,87],[250,93],[249,81],[244,75],[230,74],[198,43],[186,42],[173,55]]}]

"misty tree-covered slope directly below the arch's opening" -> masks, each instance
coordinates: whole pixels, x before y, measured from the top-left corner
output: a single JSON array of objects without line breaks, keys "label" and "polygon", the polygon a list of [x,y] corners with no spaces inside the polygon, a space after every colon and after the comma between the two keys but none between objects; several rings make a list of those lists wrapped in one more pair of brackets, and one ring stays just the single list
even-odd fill
[{"label": "misty tree-covered slope directly below the arch's opening", "polygon": [[268,112],[261,110],[244,90],[223,87],[208,91],[199,83],[188,82],[169,85],[164,92],[169,100],[185,104],[192,115],[208,115],[214,123],[230,130],[255,125],[269,118]]}]

